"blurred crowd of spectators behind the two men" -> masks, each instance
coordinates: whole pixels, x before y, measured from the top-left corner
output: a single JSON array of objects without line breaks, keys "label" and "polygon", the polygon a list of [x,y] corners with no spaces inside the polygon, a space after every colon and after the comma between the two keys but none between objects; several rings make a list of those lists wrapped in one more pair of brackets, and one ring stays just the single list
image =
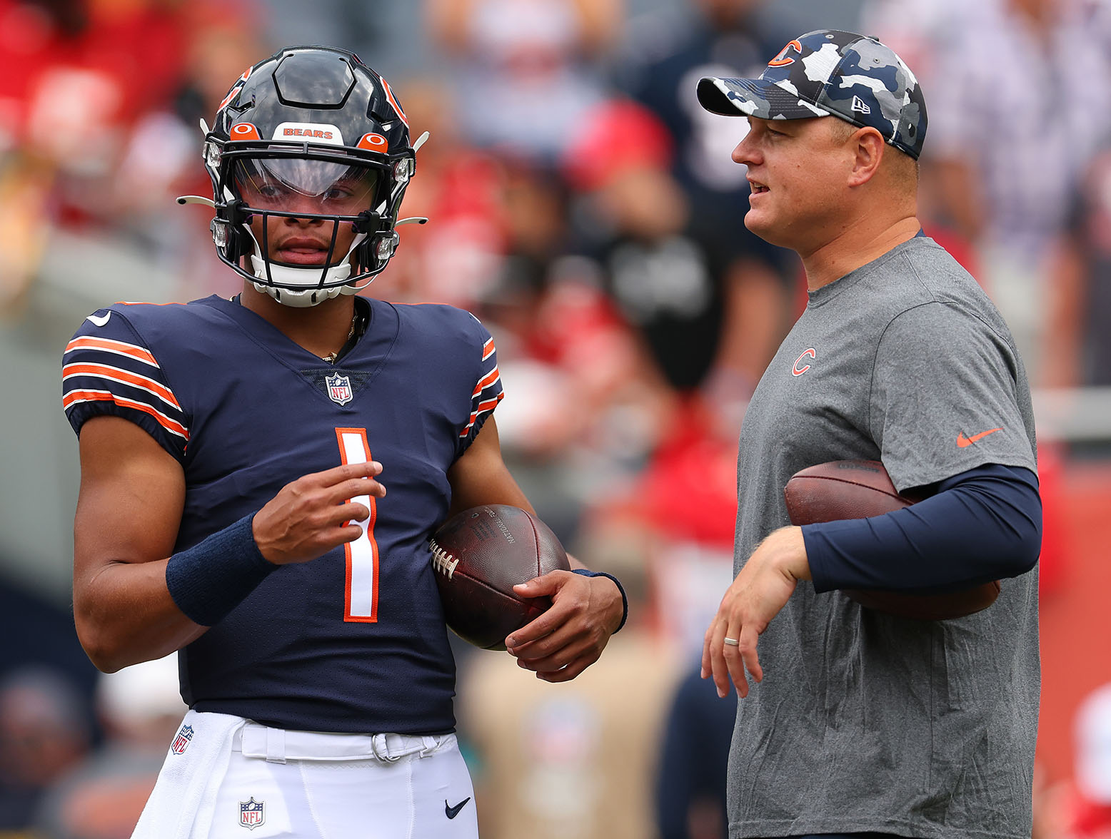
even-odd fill
[{"label": "blurred crowd of spectators behind the two men", "polygon": [[[821,3],[424,0],[434,61],[398,59],[398,78],[377,4],[300,6],[291,24],[264,0],[0,0],[0,313],[106,260],[167,299],[233,294],[209,216],[173,202],[211,194],[199,122],[274,33],[354,38],[333,46],[359,47],[431,138],[402,208],[431,221],[401,230],[368,293],[483,321],[507,462],[637,604],[605,663],[559,689],[458,650],[483,835],[723,836],[733,706],[691,668],[731,577],[740,421],[805,292],[741,221],[744,121],[698,108],[694,84],[759,74],[828,26]],[[863,0],[857,29],[918,72],[925,231],[995,300],[1034,384],[1111,385],[1111,0]],[[101,679],[94,717],[66,679],[0,673],[0,836],[127,836],[153,784],[173,667]],[[1111,837],[1107,689],[1084,715],[1042,839]]]}]

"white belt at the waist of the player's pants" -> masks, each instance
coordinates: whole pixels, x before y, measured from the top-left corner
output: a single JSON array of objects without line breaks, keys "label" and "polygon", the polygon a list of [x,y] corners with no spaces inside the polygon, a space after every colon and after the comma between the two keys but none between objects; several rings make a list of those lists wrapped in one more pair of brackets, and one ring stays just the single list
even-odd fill
[{"label": "white belt at the waist of the player's pants", "polygon": [[431,755],[454,735],[349,735],[293,731],[247,722],[236,732],[232,751],[243,757],[266,758],[271,764],[287,760],[382,760],[393,762],[407,755]]}]

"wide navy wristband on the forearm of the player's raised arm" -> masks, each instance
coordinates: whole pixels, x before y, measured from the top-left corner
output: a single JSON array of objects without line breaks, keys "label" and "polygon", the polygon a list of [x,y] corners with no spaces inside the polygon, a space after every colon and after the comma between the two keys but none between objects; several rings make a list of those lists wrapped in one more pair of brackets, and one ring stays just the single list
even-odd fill
[{"label": "wide navy wristband on the forearm of the player's raised arm", "polygon": [[253,519],[243,516],[167,563],[170,597],[194,624],[219,624],[278,567],[254,544]]}]

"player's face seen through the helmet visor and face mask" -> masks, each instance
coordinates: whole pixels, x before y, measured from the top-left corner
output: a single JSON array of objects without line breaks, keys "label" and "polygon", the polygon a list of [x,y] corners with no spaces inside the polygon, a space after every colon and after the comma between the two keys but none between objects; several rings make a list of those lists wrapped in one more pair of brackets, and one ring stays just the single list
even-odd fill
[{"label": "player's face seen through the helmet visor and face mask", "polygon": [[336,265],[347,259],[356,231],[350,222],[320,216],[353,216],[370,210],[378,173],[366,166],[314,160],[246,160],[236,164],[236,184],[251,209],[297,214],[269,215],[266,222],[261,213],[252,216],[251,231],[270,260],[288,265]]}]

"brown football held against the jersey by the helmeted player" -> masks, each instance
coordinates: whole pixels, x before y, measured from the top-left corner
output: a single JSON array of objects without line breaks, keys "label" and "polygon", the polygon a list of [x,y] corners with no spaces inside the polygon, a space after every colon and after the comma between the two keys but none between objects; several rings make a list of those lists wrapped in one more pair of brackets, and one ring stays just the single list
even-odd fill
[{"label": "brown football held against the jersey by the helmeted player", "polygon": [[458,513],[440,525],[430,547],[444,620],[483,649],[504,649],[507,635],[551,606],[548,597],[518,597],[514,585],[571,568],[548,525],[504,504]]}]

